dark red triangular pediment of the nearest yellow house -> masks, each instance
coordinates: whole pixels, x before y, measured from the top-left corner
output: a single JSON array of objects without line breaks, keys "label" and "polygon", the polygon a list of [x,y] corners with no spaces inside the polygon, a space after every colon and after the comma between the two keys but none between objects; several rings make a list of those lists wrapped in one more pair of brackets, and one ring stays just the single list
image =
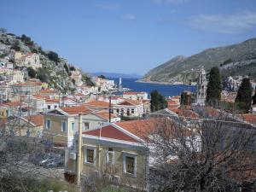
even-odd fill
[{"label": "dark red triangular pediment of the nearest yellow house", "polygon": [[136,139],[133,137],[130,137],[129,135],[125,134],[122,131],[119,131],[113,125],[106,125],[103,126],[102,129],[96,129],[92,131],[84,131],[83,134],[85,135],[90,135],[90,136],[96,136],[96,137],[107,137],[110,139],[118,139],[122,141],[127,141],[127,142],[133,142],[133,143],[138,143]]}]

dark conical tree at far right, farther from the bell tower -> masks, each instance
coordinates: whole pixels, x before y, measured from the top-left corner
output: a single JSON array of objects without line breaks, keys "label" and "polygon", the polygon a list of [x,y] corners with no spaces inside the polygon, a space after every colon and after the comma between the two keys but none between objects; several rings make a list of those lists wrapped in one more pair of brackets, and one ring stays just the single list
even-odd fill
[{"label": "dark conical tree at far right, farther from the bell tower", "polygon": [[248,113],[252,105],[252,93],[250,79],[242,79],[241,85],[236,96],[236,107],[243,113]]}]

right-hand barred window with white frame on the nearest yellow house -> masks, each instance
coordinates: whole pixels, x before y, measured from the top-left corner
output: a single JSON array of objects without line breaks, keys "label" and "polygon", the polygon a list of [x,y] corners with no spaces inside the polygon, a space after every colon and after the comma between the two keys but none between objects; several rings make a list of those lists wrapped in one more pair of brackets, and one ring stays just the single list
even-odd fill
[{"label": "right-hand barred window with white frame on the nearest yellow house", "polygon": [[137,175],[137,154],[124,154],[123,166],[124,172],[134,177]]}]

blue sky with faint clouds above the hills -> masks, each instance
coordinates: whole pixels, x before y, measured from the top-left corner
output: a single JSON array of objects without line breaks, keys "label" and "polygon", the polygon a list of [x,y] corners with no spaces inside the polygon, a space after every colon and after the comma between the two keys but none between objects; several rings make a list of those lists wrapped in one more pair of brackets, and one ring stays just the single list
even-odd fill
[{"label": "blue sky with faint clouds above the hills", "polygon": [[256,38],[256,0],[1,0],[0,27],[85,72],[137,73]]}]

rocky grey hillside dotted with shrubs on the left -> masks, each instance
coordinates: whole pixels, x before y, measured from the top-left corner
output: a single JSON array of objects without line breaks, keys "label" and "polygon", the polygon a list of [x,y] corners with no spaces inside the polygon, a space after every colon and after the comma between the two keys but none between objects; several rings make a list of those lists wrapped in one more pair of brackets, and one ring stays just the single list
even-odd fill
[{"label": "rocky grey hillside dotted with shrubs on the left", "polygon": [[[22,54],[32,52],[39,55],[42,68],[36,70],[36,78],[48,83],[49,87],[63,92],[75,90],[70,76],[72,71],[80,71],[78,67],[69,64],[66,59],[60,58],[54,51],[42,49],[26,35],[19,37],[12,33],[0,32],[0,60],[9,60],[14,63],[15,68],[20,69],[27,79],[27,68],[15,65],[15,51],[20,51]],[[93,84],[89,73],[82,71],[80,73],[82,73],[85,84]]]}]

